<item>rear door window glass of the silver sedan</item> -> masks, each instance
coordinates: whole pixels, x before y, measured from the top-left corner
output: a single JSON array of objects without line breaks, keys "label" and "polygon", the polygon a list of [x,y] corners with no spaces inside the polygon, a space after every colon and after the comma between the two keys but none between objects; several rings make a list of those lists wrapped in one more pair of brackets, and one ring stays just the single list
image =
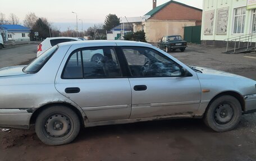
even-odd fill
[{"label": "rear door window glass of the silver sedan", "polygon": [[63,70],[63,79],[121,77],[121,68],[112,47],[84,48],[71,54]]}]

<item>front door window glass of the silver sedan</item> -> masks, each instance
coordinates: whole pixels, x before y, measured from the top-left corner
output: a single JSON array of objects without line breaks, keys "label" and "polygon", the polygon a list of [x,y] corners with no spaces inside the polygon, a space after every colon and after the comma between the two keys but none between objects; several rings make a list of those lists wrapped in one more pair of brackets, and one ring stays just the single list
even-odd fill
[{"label": "front door window glass of the silver sedan", "polygon": [[133,77],[181,76],[181,66],[150,48],[122,48]]}]

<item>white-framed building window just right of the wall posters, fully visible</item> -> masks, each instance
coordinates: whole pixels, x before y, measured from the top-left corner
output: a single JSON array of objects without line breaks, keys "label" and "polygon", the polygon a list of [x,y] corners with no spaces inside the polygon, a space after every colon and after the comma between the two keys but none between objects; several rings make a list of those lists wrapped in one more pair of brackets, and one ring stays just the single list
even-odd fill
[{"label": "white-framed building window just right of the wall posters, fully visible", "polygon": [[236,8],[234,16],[234,34],[244,34],[246,7]]}]

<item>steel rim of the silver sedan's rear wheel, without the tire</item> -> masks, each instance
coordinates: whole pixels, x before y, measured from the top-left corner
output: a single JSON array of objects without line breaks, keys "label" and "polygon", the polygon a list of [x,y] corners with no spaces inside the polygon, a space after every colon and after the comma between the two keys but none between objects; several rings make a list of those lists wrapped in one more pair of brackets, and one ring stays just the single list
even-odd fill
[{"label": "steel rim of the silver sedan's rear wheel, without the tire", "polygon": [[43,132],[48,139],[54,141],[65,140],[73,131],[72,119],[63,113],[52,113],[45,118]]}]

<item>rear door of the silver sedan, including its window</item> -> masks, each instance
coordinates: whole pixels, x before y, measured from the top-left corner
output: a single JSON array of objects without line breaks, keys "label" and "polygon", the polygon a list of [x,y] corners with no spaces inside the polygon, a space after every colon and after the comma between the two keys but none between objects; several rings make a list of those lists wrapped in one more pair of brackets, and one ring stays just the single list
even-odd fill
[{"label": "rear door of the silver sedan, including its window", "polygon": [[[79,105],[90,122],[127,119],[131,113],[129,80],[122,77],[114,47],[70,48],[56,77],[56,89]],[[102,53],[100,61],[86,54]]]}]

